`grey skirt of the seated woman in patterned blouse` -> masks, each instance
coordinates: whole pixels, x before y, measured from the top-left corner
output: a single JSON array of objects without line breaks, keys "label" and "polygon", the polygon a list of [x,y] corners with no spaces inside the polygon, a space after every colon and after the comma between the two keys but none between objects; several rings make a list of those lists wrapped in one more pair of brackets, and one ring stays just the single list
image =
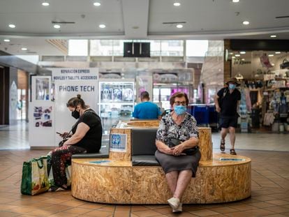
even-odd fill
[{"label": "grey skirt of the seated woman in patterned blouse", "polygon": [[154,156],[156,156],[156,160],[158,160],[158,163],[163,167],[165,174],[172,171],[192,170],[193,177],[195,177],[198,170],[201,158],[200,151],[197,151],[193,155],[172,156],[156,150]]}]

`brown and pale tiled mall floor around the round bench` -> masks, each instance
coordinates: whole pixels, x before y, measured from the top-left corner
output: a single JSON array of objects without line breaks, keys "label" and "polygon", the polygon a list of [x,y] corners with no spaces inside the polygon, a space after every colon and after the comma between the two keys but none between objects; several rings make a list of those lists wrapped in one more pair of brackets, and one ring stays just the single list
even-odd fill
[{"label": "brown and pale tiled mall floor around the round bench", "polygon": [[[5,128],[4,128],[5,129]],[[252,159],[252,196],[226,204],[184,205],[182,214],[172,214],[168,205],[129,206],[97,204],[77,200],[71,191],[21,195],[24,160],[47,154],[48,150],[19,149],[28,144],[23,127],[0,128],[0,216],[289,216],[288,135],[239,134],[237,152]],[[19,132],[19,131],[23,132]],[[3,133],[4,132],[4,133]],[[6,133],[5,133],[6,132]],[[14,132],[14,133],[13,133]],[[255,135],[255,136],[254,136]],[[23,138],[24,136],[24,138]],[[214,139],[214,136],[216,137]],[[218,142],[218,135],[213,142]],[[272,139],[273,137],[273,139]],[[286,139],[287,138],[287,139]],[[20,144],[18,144],[20,142]],[[243,144],[246,143],[246,144]],[[251,151],[246,147],[287,151]],[[214,144],[214,147],[218,144]],[[15,147],[16,149],[11,149]],[[7,149],[9,148],[9,149]],[[239,149],[238,149],[239,148]],[[218,151],[215,149],[214,151]]]}]

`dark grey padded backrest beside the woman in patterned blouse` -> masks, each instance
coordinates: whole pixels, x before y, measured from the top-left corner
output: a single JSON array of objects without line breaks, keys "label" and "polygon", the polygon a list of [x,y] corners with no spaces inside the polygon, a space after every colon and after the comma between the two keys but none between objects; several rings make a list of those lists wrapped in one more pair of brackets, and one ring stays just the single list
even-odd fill
[{"label": "dark grey padded backrest beside the woman in patterned blouse", "polygon": [[154,155],[157,130],[158,128],[133,128],[131,130],[131,155]]}]

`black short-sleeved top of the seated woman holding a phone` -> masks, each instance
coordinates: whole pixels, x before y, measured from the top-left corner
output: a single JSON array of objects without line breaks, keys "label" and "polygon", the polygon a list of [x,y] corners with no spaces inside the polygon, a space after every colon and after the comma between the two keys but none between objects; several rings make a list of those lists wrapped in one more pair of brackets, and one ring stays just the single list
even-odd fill
[{"label": "black short-sleeved top of the seated woman holding a phone", "polygon": [[84,135],[80,142],[77,142],[77,146],[87,149],[87,153],[96,153],[101,149],[101,138],[103,136],[103,127],[101,126],[101,118],[94,112],[94,110],[86,110],[80,119],[77,121],[77,124],[73,126],[73,134],[76,131],[77,125],[80,123],[87,124],[89,130]]}]

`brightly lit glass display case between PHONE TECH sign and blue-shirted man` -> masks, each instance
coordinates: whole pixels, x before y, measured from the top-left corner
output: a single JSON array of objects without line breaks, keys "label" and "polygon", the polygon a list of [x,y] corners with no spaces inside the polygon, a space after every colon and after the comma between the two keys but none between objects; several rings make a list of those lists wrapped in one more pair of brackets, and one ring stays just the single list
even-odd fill
[{"label": "brightly lit glass display case between PHONE TECH sign and blue-shirted man", "polygon": [[103,134],[109,134],[117,121],[128,121],[135,102],[134,80],[103,79],[99,81],[99,114]]}]

